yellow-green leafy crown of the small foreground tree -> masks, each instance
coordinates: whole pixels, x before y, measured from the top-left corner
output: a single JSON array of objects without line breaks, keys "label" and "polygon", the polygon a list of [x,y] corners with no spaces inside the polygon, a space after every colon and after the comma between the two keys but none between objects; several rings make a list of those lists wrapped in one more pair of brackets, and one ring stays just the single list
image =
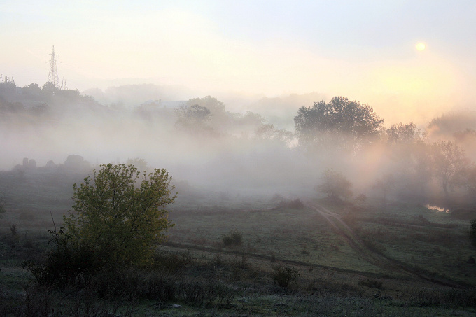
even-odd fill
[{"label": "yellow-green leafy crown of the small foreground tree", "polygon": [[87,245],[115,265],[146,265],[153,245],[172,224],[165,206],[175,195],[165,169],[141,175],[133,165],[101,165],[73,185],[73,210],[64,216],[73,246]]}]

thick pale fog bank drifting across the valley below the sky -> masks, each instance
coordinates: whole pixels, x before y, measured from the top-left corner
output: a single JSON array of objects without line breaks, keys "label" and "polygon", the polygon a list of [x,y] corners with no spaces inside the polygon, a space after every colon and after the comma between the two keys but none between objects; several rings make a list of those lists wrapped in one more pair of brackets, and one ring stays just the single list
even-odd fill
[{"label": "thick pale fog bank drifting across the valley below the sky", "polygon": [[50,160],[63,164],[72,154],[91,167],[143,159],[149,169],[165,168],[196,188],[292,197],[318,195],[314,188],[323,171],[332,169],[349,178],[353,197],[379,196],[383,188],[387,197],[427,199],[443,197],[448,189],[464,195],[470,186],[455,178],[442,190],[437,142],[451,141],[463,150],[461,168],[472,168],[476,159],[471,111],[442,113],[417,127],[385,122],[372,105],[357,102],[375,119],[372,131],[364,133],[359,122],[349,129],[345,120],[325,127],[313,123],[314,102],[330,102],[317,93],[243,99],[241,106],[238,99],[230,98],[235,104],[228,106],[215,97],[186,99],[190,92],[153,85],[88,93],[94,97],[74,90],[47,94],[35,85],[3,93],[0,168],[18,168],[25,157],[36,167]]}]

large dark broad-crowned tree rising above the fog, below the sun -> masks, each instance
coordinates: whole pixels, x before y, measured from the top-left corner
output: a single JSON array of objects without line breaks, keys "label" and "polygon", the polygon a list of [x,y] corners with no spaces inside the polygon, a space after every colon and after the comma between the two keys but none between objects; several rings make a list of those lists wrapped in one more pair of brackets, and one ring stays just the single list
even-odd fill
[{"label": "large dark broad-crowned tree rising above the fog, below the sun", "polygon": [[320,101],[309,108],[301,107],[294,122],[301,145],[355,149],[377,137],[384,120],[367,104],[334,97],[328,103]]}]

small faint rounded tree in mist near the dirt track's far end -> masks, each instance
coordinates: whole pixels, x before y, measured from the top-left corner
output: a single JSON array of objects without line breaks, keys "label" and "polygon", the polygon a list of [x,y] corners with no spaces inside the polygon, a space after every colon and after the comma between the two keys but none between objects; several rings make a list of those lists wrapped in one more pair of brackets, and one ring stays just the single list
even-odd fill
[{"label": "small faint rounded tree in mist near the dirt track's far end", "polygon": [[322,173],[322,182],[314,189],[325,192],[330,199],[341,199],[352,196],[352,183],[339,171],[326,169]]}]

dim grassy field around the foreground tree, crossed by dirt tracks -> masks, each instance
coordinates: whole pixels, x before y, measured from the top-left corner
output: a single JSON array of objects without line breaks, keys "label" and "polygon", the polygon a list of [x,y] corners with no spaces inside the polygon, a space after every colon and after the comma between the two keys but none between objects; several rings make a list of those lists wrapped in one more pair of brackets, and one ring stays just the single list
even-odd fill
[{"label": "dim grassy field around the foreground tree, crossed by dirt tracks", "polygon": [[[48,250],[51,218],[61,225],[83,178],[55,177],[0,175],[0,316],[476,314],[468,220],[371,199],[302,197],[293,208],[272,195],[189,188],[172,206],[176,225],[154,267],[103,274],[87,290],[37,286],[22,264]],[[234,232],[241,244],[226,245]],[[279,286],[286,269],[296,274]]]}]

